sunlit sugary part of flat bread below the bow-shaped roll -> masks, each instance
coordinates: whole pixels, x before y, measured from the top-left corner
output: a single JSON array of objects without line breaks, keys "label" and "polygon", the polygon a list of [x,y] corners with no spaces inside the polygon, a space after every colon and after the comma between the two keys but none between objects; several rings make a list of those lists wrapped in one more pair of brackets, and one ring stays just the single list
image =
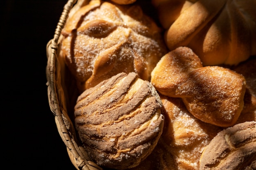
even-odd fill
[{"label": "sunlit sugary part of flat bread below the bow-shaped roll", "polygon": [[180,98],[161,95],[161,100],[166,128],[161,138],[169,145],[167,152],[172,153],[177,169],[198,170],[204,147],[221,128],[195,118]]}]

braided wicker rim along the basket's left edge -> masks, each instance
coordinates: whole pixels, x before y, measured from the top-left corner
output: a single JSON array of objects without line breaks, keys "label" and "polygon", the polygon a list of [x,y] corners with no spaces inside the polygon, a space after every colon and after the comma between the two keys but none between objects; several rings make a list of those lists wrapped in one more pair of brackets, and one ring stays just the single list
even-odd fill
[{"label": "braided wicker rim along the basket's left edge", "polygon": [[[63,8],[63,12],[57,24],[56,30],[54,32],[54,38],[47,43],[46,51],[47,51],[47,68],[46,68],[46,75],[47,75],[47,90],[48,90],[48,100],[49,106],[55,115],[56,125],[63,139],[64,143],[67,146],[67,150],[69,156],[77,169],[81,170],[102,170],[97,164],[87,160],[87,155],[83,153],[81,146],[77,146],[76,143],[72,140],[71,134],[68,132],[67,127],[64,123],[60,103],[58,101],[58,97],[61,93],[57,90],[56,80],[59,78],[60,65],[58,62],[57,51],[58,51],[58,41],[61,36],[61,31],[64,28],[68,15],[73,8],[75,3],[78,3],[79,6],[87,2],[88,0],[68,0]],[[81,157],[82,156],[82,157]],[[83,159],[85,158],[85,159]],[[74,159],[74,160],[73,160]]]}]

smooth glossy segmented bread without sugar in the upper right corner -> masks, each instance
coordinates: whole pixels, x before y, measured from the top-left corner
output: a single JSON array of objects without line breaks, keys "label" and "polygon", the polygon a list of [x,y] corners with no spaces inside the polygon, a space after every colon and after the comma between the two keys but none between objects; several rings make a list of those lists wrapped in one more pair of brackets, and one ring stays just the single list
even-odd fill
[{"label": "smooth glossy segmented bread without sugar in the upper right corner", "polygon": [[[255,0],[191,3],[165,0],[157,7],[159,20],[167,27],[165,41],[170,51],[188,46],[204,66],[236,65],[256,55]],[[174,4],[174,9],[167,11],[168,4]]]}]

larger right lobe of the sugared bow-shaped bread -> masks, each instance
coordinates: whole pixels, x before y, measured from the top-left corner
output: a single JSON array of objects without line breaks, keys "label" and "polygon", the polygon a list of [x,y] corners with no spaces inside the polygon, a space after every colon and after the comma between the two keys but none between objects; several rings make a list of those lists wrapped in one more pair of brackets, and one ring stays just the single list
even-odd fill
[{"label": "larger right lobe of the sugared bow-shaped bread", "polygon": [[186,84],[185,89],[193,88],[193,94],[182,100],[192,115],[217,126],[235,124],[244,106],[242,75],[226,68],[206,66],[192,71],[189,82],[194,85]]}]

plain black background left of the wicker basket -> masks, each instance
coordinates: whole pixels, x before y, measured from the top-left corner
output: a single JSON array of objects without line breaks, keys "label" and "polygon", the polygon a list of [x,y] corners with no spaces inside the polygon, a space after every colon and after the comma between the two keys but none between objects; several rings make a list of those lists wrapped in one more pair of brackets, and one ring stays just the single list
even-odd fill
[{"label": "plain black background left of the wicker basket", "polygon": [[67,0],[0,2],[1,164],[75,170],[47,98],[46,44]]}]

